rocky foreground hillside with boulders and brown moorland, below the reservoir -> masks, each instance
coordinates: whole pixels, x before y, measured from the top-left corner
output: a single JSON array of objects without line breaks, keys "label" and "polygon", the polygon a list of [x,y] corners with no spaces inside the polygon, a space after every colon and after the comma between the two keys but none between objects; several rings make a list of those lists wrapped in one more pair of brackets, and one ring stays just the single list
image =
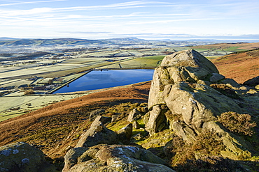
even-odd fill
[{"label": "rocky foreground hillside with boulders and brown moorland, below the reservoir", "polygon": [[0,147],[1,170],[258,171],[258,84],[226,78],[194,50],[176,52],[155,69],[152,83],[1,122],[1,145],[14,143]]}]

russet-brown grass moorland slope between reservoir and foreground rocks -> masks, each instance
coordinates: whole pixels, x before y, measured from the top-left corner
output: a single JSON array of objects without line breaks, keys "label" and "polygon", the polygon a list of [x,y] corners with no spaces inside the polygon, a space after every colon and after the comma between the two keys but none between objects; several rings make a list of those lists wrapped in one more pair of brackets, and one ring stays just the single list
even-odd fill
[{"label": "russet-brown grass moorland slope between reservoir and foreground rocks", "polygon": [[0,146],[26,141],[41,146],[40,149],[50,157],[64,156],[64,149],[77,142],[72,140],[78,125],[84,122],[80,127],[87,129],[90,111],[108,109],[121,102],[147,102],[150,86],[151,82],[147,82],[143,85],[92,93],[2,121]]}]

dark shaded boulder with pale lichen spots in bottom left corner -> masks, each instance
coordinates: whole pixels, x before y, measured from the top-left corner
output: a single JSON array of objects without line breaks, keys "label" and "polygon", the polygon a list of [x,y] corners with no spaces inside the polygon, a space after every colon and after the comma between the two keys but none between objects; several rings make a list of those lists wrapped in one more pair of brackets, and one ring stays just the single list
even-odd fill
[{"label": "dark shaded boulder with pale lichen spots in bottom left corner", "polygon": [[54,172],[57,170],[45,160],[41,150],[28,143],[17,142],[0,147],[0,171]]}]

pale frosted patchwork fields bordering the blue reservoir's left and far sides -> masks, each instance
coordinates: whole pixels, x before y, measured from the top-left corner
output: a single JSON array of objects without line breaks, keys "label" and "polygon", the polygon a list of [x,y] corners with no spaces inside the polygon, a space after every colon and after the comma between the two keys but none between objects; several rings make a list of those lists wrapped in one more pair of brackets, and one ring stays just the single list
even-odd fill
[{"label": "pale frosted patchwork fields bordering the blue reservoir's left and far sides", "polygon": [[[33,63],[9,62],[1,68],[0,121],[40,109],[55,102],[62,102],[87,93],[51,95],[56,89],[85,75],[94,68],[155,68],[164,56],[113,57],[113,58],[64,58],[55,61],[35,60]],[[120,64],[120,65],[119,65]],[[83,72],[85,71],[85,72]],[[25,95],[32,89],[33,95]]]}]

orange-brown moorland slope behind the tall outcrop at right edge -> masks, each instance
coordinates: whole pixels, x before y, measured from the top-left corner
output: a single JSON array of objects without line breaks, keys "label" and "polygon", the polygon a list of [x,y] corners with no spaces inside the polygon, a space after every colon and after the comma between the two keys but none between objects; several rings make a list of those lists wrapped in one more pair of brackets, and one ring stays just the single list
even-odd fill
[{"label": "orange-brown moorland slope behind the tall outcrop at right edge", "polygon": [[[254,43],[259,45],[259,43]],[[245,47],[245,44],[242,44]],[[253,47],[249,44],[250,47]],[[259,75],[259,49],[228,54],[212,60],[225,77],[235,79],[240,84]]]}]

